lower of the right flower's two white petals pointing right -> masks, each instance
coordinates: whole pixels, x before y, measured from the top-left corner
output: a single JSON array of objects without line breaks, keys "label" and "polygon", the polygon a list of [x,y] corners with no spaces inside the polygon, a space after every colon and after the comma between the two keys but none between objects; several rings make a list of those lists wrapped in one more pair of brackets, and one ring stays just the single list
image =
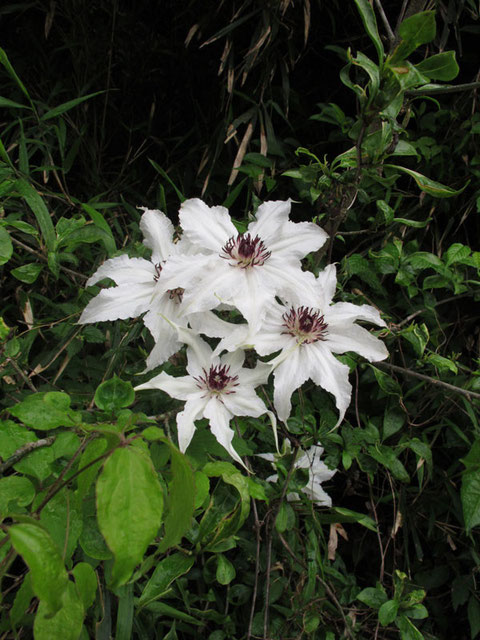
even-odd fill
[{"label": "lower of the right flower's two white petals pointing right", "polygon": [[385,360],[388,357],[387,347],[381,340],[353,323],[329,327],[325,344],[333,353],[355,351],[369,362]]}]

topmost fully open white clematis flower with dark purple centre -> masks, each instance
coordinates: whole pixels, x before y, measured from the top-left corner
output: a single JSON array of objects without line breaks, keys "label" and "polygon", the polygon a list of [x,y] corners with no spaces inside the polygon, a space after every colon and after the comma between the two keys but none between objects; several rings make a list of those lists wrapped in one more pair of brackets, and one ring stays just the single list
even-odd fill
[{"label": "topmost fully open white clematis flower with dark purple centre", "polygon": [[175,256],[162,274],[172,289],[185,289],[190,312],[234,305],[258,326],[276,296],[300,303],[312,295],[313,276],[300,260],[319,249],[327,234],[311,222],[288,219],[290,200],[265,202],[245,233],[238,233],[224,207],[208,207],[192,198],[180,209],[184,236],[199,252]]}]

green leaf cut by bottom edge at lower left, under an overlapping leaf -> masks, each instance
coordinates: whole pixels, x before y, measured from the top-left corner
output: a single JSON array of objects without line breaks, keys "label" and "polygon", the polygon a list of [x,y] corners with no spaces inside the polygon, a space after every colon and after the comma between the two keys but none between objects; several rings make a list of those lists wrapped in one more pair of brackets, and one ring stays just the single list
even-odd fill
[{"label": "green leaf cut by bottom edge at lower left, under an overlapping leaf", "polygon": [[35,640],[78,640],[82,631],[85,611],[73,582],[68,582],[62,598],[62,607],[55,615],[40,600],[33,623]]}]

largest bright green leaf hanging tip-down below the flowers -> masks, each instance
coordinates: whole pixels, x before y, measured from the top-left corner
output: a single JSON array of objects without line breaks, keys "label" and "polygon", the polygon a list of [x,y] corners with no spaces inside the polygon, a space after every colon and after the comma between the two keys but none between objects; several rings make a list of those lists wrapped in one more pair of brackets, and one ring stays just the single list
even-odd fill
[{"label": "largest bright green leaf hanging tip-down below the flowers", "polygon": [[125,584],[153,542],[162,521],[163,493],[150,457],[116,449],[97,480],[97,519],[115,556],[112,588]]}]

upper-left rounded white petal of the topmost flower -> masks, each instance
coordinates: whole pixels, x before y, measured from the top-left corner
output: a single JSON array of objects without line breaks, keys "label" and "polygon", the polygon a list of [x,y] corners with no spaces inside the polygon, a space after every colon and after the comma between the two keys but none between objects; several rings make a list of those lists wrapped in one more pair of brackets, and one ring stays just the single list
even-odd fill
[{"label": "upper-left rounded white petal of the topmost flower", "polygon": [[199,198],[183,202],[179,217],[186,237],[215,253],[220,253],[229,238],[238,235],[225,207],[209,207]]}]

